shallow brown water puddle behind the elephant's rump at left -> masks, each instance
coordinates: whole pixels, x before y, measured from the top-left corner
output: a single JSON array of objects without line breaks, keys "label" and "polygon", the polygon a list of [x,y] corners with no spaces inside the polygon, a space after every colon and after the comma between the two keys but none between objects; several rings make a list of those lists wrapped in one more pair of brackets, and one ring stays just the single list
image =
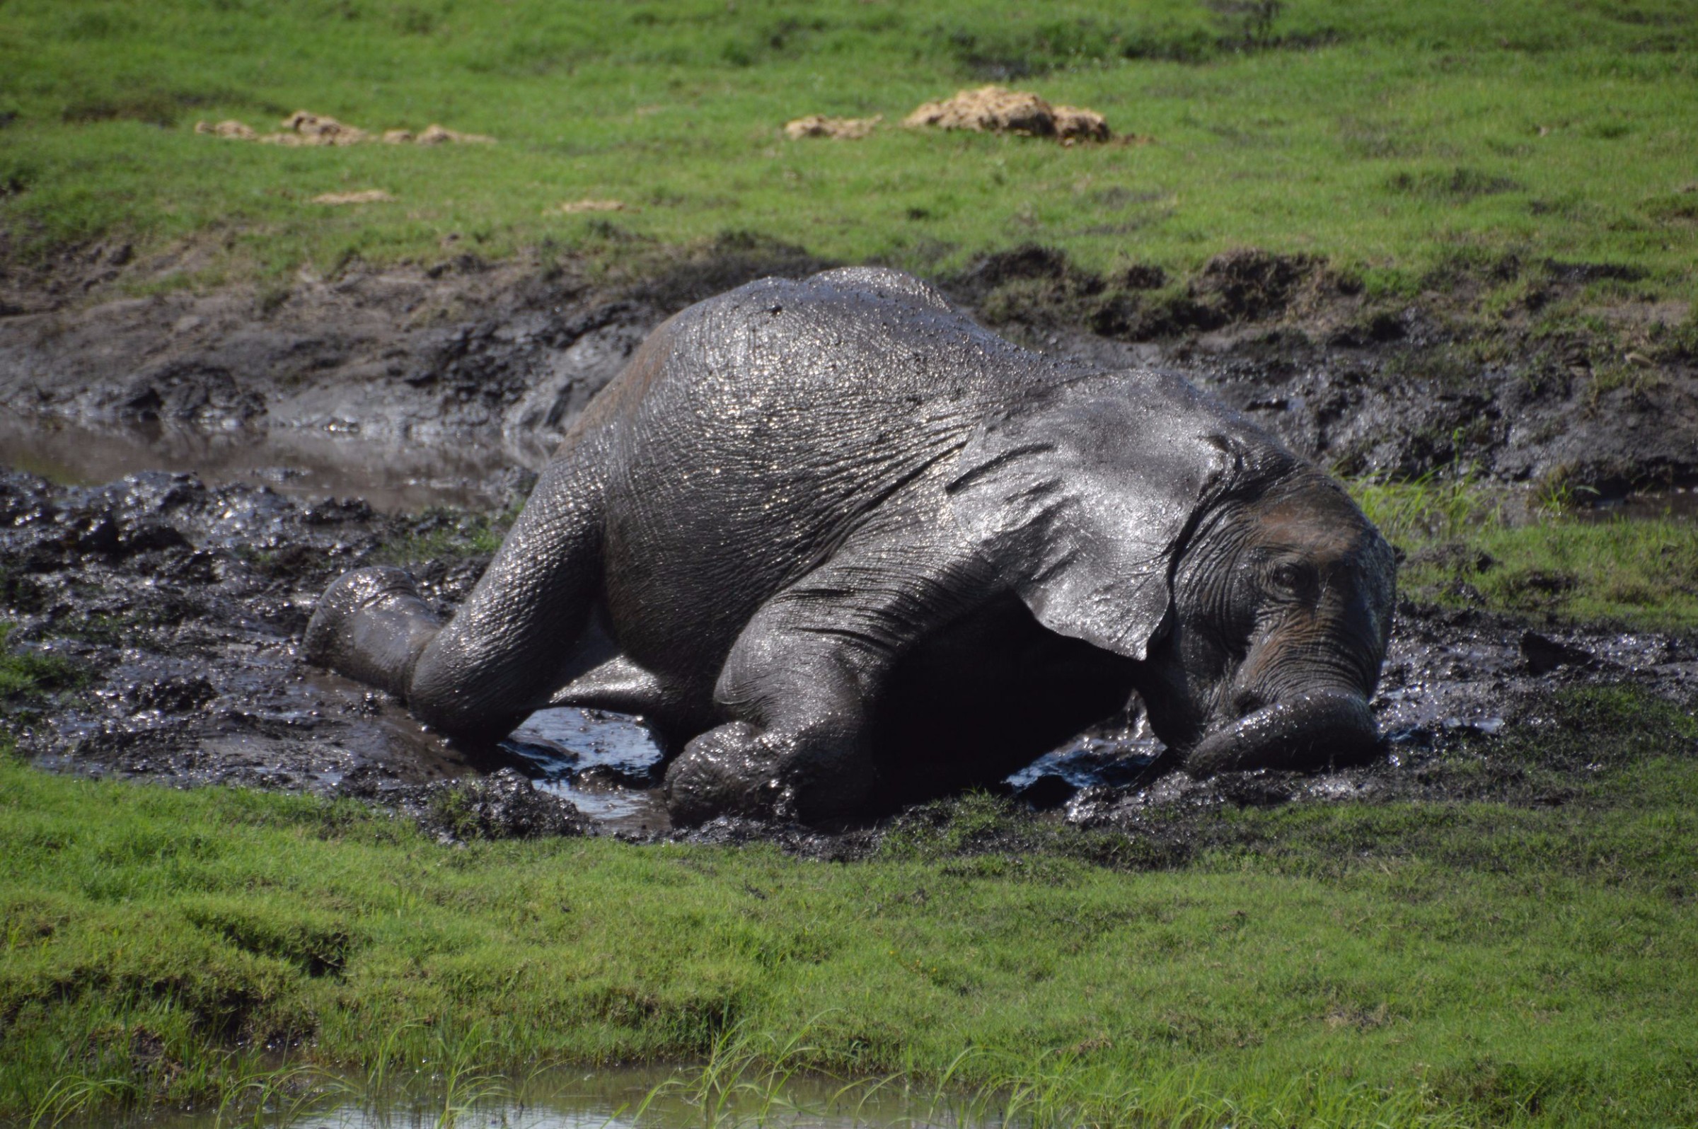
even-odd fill
[{"label": "shallow brown water puddle behind the elephant's rump at left", "polygon": [[207,486],[267,486],[309,503],[362,497],[380,513],[499,508],[520,479],[511,458],[477,440],[424,447],[304,428],[87,426],[22,413],[0,416],[0,467],[66,486],[187,472]]}]

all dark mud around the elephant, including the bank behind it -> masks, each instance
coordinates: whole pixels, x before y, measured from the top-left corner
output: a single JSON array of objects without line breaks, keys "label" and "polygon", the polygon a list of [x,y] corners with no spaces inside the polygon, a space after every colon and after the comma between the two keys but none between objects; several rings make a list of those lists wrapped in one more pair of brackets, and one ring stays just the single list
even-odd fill
[{"label": "all dark mud around the elephant, including the bank behind it", "polygon": [[[0,621],[15,623],[8,645],[70,671],[66,688],[7,703],[20,750],[87,774],[355,796],[445,839],[671,835],[640,720],[550,710],[501,745],[453,745],[384,694],[306,666],[301,632],[329,579],[375,560],[411,567],[450,611],[499,525],[423,508],[511,508],[659,321],[820,263],[727,244],[623,285],[462,260],[273,295],[100,299],[126,265],[105,248],[0,284]],[[1032,250],[980,263],[953,292],[1039,348],[1177,367],[1347,469],[1467,458],[1611,497],[1698,480],[1698,380],[1678,358],[1656,382],[1606,389],[1577,367],[1552,377],[1543,355],[1467,367],[1420,309],[1375,329],[1350,295],[1316,299],[1333,284],[1296,260],[1216,263],[1184,301],[1139,306],[1163,285],[1138,270],[1080,275]],[[1051,818],[1173,845],[1185,834],[1173,813],[1219,805],[1472,795],[1476,778],[1433,766],[1457,749],[1491,761],[1493,742],[1550,725],[1564,688],[1618,684],[1698,699],[1698,649],[1404,601],[1374,764],[1194,781],[1148,733],[1102,730],[1002,788]],[[1547,783],[1503,779],[1498,798],[1554,801]],[[924,815],[895,825],[912,818]],[[883,834],[720,820],[689,837],[852,857]]]}]

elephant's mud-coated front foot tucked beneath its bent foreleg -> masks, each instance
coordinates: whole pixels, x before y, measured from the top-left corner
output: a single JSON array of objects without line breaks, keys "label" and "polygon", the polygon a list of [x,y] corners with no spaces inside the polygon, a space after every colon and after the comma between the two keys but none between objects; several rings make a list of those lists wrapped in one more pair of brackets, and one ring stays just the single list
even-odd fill
[{"label": "elephant's mud-coated front foot tucked beneath its bent foreleg", "polygon": [[728,722],[701,733],[666,771],[666,806],[679,827],[718,815],[817,823],[864,800],[864,755],[835,742],[762,733]]}]

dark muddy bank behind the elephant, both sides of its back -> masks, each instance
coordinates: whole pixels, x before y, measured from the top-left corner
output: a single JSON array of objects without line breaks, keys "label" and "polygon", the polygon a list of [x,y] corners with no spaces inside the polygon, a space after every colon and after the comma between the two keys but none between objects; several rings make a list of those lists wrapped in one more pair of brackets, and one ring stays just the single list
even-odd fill
[{"label": "dark muddy bank behind the elephant, both sides of its back", "polygon": [[[183,265],[138,263],[107,246],[7,267],[0,409],[143,443],[149,430],[238,447],[357,438],[431,452],[426,462],[479,452],[486,465],[535,469],[664,317],[744,280],[825,263],[727,239],[655,251],[627,278],[593,278],[569,256],[462,256],[431,268],[355,265],[263,290],[110,297]],[[1022,248],[941,282],[981,321],[1037,348],[1178,368],[1343,472],[1418,477],[1460,462],[1605,499],[1698,482],[1698,358],[1678,334],[1657,338],[1683,311],[1625,304],[1608,333],[1557,331],[1538,311],[1620,268],[1527,272],[1535,282],[1520,306],[1491,319],[1479,312],[1491,277],[1435,278],[1442,289],[1389,301],[1321,260],[1260,251],[1177,280],[1136,265],[1095,275]],[[0,457],[17,462],[17,447],[0,436]],[[343,448],[370,462],[358,443]],[[182,463],[66,474],[95,480],[158,465]]]}]

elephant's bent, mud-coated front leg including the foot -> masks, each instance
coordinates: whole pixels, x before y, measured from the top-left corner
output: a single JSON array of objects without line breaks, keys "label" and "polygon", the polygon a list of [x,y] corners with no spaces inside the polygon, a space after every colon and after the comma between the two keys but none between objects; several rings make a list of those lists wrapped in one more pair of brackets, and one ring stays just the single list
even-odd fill
[{"label": "elephant's bent, mud-coated front leg including the foot", "polygon": [[720,672],[715,705],[730,720],[691,740],[667,769],[672,820],[818,823],[864,806],[876,786],[868,733],[890,671],[992,591],[988,567],[970,548],[905,530],[846,545],[774,596]]}]

